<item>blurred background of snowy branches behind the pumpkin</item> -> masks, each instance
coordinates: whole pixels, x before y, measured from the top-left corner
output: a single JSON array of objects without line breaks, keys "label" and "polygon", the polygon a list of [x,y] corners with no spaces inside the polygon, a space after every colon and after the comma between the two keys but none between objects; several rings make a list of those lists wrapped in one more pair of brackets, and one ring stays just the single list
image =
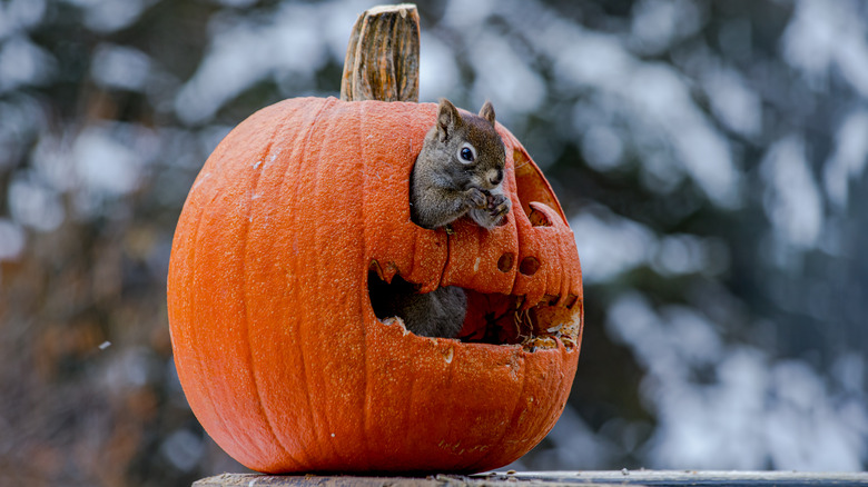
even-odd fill
[{"label": "blurred background of snowy branches behind the pumpkin", "polygon": [[[336,96],[373,1],[0,0],[0,484],[244,471],[177,380],[165,282],[203,162]],[[868,467],[868,4],[420,1],[423,101],[523,141],[586,329],[522,469]]]}]

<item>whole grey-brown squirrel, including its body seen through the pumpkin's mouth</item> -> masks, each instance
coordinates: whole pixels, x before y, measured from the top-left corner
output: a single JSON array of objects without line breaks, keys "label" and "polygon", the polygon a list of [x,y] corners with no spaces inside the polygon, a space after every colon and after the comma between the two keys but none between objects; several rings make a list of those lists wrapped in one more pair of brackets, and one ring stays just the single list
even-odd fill
[{"label": "whole grey-brown squirrel, including its body seen through the pumpkin's mouth", "polygon": [[[448,100],[441,99],[437,121],[413,166],[412,220],[434,229],[468,215],[479,226],[494,228],[510,211],[510,199],[503,191],[505,165],[491,102],[482,106],[479,116],[462,116]],[[400,277],[392,285],[372,277],[369,290],[378,318],[397,316],[420,336],[454,338],[467,311],[467,297],[460,287],[420,294]]]}]

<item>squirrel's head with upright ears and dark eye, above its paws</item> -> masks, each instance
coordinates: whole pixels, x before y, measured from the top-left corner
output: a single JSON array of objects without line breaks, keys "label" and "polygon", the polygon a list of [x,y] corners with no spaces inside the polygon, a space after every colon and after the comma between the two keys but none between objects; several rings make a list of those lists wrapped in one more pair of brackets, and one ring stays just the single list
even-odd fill
[{"label": "squirrel's head with upright ears and dark eye, above its paws", "polygon": [[506,153],[494,128],[491,101],[475,116],[462,115],[450,100],[441,98],[437,123],[430,136],[435,137],[440,157],[447,158],[443,170],[453,182],[465,189],[492,190],[503,181]]}]

